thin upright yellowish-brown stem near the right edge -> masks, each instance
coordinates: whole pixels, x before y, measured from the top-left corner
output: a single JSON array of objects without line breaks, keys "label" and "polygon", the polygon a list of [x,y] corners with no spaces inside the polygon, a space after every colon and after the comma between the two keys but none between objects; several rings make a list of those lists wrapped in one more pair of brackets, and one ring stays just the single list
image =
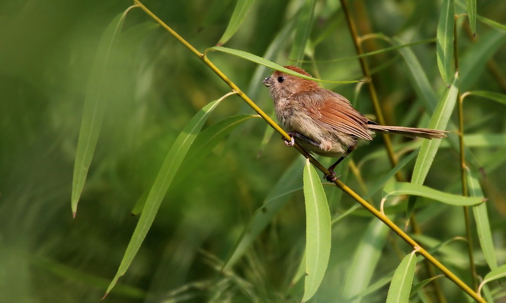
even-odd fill
[{"label": "thin upright yellowish-brown stem near the right edge", "polygon": [[[455,63],[455,72],[458,72],[458,39],[457,39],[457,19],[458,16],[455,16],[455,23],[453,25],[453,61]],[[464,149],[464,114],[463,114],[463,101],[465,95],[460,94],[460,87],[457,91],[457,100],[458,100],[458,142],[460,149],[460,177],[462,182],[462,195],[468,196],[468,182],[466,178],[466,150]],[[473,254],[473,238],[471,235],[471,219],[469,216],[469,207],[464,206],[464,222],[466,223],[466,237],[468,242],[468,255],[469,255],[469,267],[471,269],[471,281],[473,284],[473,289],[478,290],[478,278],[476,275],[476,266],[474,262],[474,254]]]}]

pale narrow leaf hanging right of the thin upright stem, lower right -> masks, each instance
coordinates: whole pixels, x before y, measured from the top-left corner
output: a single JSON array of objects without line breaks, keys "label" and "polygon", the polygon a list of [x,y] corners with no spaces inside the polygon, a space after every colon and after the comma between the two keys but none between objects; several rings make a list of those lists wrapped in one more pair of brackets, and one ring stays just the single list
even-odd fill
[{"label": "pale narrow leaf hanging right of the thin upright stem, lower right", "polygon": [[[466,170],[466,174],[469,185],[469,194],[472,197],[483,199],[484,195],[476,176],[469,169]],[[474,206],[473,215],[476,221],[476,231],[478,232],[478,239],[480,241],[481,249],[483,250],[483,256],[485,257],[490,269],[494,270],[497,268],[497,259],[495,258],[492,233],[490,223],[488,221],[487,204],[482,203],[481,205]]]}]

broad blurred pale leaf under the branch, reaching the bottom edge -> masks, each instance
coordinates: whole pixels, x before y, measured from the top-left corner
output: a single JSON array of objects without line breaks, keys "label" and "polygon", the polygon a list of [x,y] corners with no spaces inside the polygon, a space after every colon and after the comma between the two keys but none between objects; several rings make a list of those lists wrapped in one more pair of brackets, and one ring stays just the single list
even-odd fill
[{"label": "broad blurred pale leaf under the branch, reaching the bottom edge", "polygon": [[390,229],[373,219],[362,235],[345,278],[343,296],[352,298],[367,288],[376,268]]}]

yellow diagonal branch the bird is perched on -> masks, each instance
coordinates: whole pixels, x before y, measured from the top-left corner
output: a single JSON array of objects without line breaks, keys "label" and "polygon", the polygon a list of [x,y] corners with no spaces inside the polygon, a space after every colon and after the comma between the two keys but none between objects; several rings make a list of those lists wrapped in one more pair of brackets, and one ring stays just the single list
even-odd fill
[{"label": "yellow diagonal branch the bird is perched on", "polygon": [[[139,0],[134,0],[134,2],[141,8],[147,15],[149,15],[153,20],[155,20],[158,24],[160,24],[164,29],[170,32],[179,42],[185,45],[192,53],[194,53],[200,60],[202,60],[210,69],[212,69],[227,85],[229,85],[239,97],[241,97],[244,102],[246,102],[253,110],[255,110],[264,120],[277,132],[279,132],[284,138],[290,140],[291,137],[276,123],[274,122],[262,109],[260,109],[242,90],[239,89],[235,83],[233,83],[223,72],[218,69],[206,56],[205,54],[197,51],[193,45],[188,43],[183,37],[181,37],[177,32],[175,32],[172,28],[166,25],[163,21],[161,21],[156,15],[154,15],[148,8],[146,8]],[[321,172],[324,174],[328,174],[328,170],[319,163],[315,158],[313,158],[304,148],[302,148],[297,143],[294,147]],[[335,185],[338,186],[341,190],[347,193],[350,197],[356,200],[362,207],[364,207],[367,211],[369,211],[376,218],[385,223],[390,229],[392,229],[396,234],[398,234],[404,241],[406,241],[409,245],[411,245],[414,249],[418,249],[420,255],[422,255],[425,259],[427,259],[430,263],[436,266],[448,279],[450,279],[453,283],[455,283],[459,288],[469,294],[473,299],[478,302],[486,302],[482,297],[480,297],[475,291],[473,291],[466,283],[460,280],[453,272],[451,272],[448,268],[446,268],[443,264],[441,264],[436,258],[434,258],[427,250],[421,247],[415,240],[413,240],[409,235],[407,235],[401,228],[395,225],[387,216],[379,212],[372,205],[367,203],[360,195],[358,195],[355,191],[353,191],[346,184],[341,182],[340,180],[334,181]]]}]

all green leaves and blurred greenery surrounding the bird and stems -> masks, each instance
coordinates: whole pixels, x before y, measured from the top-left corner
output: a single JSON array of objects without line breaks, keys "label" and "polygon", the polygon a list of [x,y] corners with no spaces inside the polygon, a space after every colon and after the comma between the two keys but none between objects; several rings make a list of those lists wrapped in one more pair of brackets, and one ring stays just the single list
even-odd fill
[{"label": "all green leaves and blurred greenery surrounding the bird and stems", "polygon": [[[104,301],[437,301],[436,284],[448,301],[468,299],[354,199],[322,188],[238,96],[205,111],[230,88],[141,9],[123,15],[130,5],[0,2],[2,301],[96,302],[116,282]],[[403,184],[397,172],[418,180],[385,205],[388,217],[402,225],[407,196],[419,194],[421,233],[408,234],[468,285],[474,266],[481,295],[503,299],[504,1],[348,1],[361,55],[339,2],[143,5],[267,113],[261,81],[293,64],[374,120],[357,81],[365,58],[389,124],[450,132],[392,136],[396,167],[376,136],[338,167],[341,180],[376,208]],[[484,199],[469,207],[470,265],[462,207],[441,201]]]}]

